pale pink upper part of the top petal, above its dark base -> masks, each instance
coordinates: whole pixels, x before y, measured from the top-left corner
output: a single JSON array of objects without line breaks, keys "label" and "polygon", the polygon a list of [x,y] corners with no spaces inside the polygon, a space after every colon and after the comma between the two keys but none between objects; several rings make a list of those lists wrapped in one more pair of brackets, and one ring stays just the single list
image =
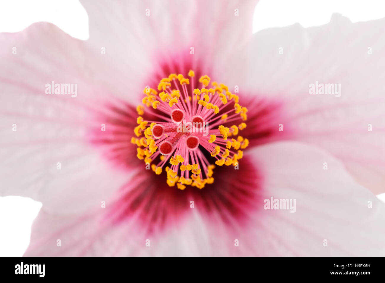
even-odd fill
[{"label": "pale pink upper part of the top petal, above its dark base", "polygon": [[[105,47],[112,62],[146,67],[150,74],[159,58],[188,55],[201,60],[201,68],[226,58],[251,38],[258,0],[80,2],[89,15],[89,42]],[[147,61],[137,57],[143,52]]]}]

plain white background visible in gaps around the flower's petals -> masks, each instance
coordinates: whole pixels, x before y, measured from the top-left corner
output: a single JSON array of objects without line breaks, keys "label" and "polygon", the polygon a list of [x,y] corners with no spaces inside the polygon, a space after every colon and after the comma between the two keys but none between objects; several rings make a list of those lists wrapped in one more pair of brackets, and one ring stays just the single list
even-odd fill
[{"label": "plain white background visible in gaps around the flower's petals", "polygon": [[[332,13],[340,13],[352,22],[375,20],[385,17],[385,1],[260,0],[254,13],[253,32],[297,22],[303,27],[323,25]],[[54,23],[73,37],[89,38],[87,13],[76,0],[0,0],[0,32],[18,32],[41,21]],[[385,201],[385,193],[378,198]],[[0,256],[23,255],[32,221],[41,206],[30,198],[0,197]]]}]

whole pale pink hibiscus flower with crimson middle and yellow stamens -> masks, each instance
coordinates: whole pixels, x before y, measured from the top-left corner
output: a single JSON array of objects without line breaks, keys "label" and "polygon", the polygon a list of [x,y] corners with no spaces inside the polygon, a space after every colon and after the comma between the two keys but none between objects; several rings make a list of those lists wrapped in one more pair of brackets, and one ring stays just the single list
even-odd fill
[{"label": "whole pale pink hibiscus flower with crimson middle and yellow stamens", "polygon": [[43,204],[25,255],[385,254],[384,19],[81,3],[89,40],[0,34],[1,195]]}]

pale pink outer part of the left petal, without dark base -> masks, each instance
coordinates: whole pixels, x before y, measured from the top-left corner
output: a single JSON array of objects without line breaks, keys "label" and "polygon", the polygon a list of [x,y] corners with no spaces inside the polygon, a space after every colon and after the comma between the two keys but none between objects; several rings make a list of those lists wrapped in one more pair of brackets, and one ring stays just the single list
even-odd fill
[{"label": "pale pink outer part of the left petal, without dark base", "polygon": [[[109,97],[113,105],[111,92],[119,96],[107,74],[117,83],[119,73],[97,59],[100,50],[50,23],[0,33],[0,42],[1,195],[30,196],[55,211],[98,207],[127,180],[89,144],[90,129],[101,132],[109,122],[98,119],[109,113],[101,102]],[[52,81],[77,84],[76,97],[46,94]]]}]

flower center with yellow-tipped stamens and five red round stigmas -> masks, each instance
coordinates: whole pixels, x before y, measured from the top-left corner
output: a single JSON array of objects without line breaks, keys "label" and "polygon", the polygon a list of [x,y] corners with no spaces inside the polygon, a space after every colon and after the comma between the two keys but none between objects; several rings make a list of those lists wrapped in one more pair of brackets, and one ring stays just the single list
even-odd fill
[{"label": "flower center with yellow-tipped stamens and five red round stigmas", "polygon": [[201,189],[212,184],[213,163],[237,166],[243,156],[240,149],[249,144],[238,135],[246,127],[243,121],[248,112],[239,105],[238,95],[222,83],[211,82],[207,88],[211,80],[207,75],[199,78],[199,88],[194,88],[194,71],[188,77],[162,78],[157,87],[160,93],[148,86],[144,89],[146,108],[137,107],[136,137],[131,138],[146,169],[151,165],[160,175],[164,168],[167,184],[181,190],[187,185]]}]

